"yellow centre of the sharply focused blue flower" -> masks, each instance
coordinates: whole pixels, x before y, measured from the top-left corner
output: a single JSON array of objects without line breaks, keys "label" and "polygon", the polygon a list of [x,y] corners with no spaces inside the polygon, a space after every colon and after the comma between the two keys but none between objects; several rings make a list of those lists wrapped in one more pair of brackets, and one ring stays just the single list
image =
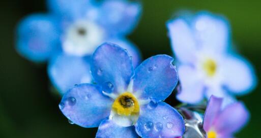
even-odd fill
[{"label": "yellow centre of the sharply focused blue flower", "polygon": [[138,115],[138,100],[132,93],[125,92],[114,100],[112,110],[117,114],[124,116]]}]

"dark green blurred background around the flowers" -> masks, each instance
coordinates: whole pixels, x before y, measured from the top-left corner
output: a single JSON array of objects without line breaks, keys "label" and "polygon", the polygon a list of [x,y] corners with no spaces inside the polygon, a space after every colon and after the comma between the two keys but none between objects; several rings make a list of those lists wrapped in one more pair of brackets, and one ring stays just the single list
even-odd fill
[{"label": "dark green blurred background around the flowers", "polygon": [[[77,0],[76,0],[77,1]],[[45,0],[2,0],[0,5],[0,137],[94,137],[96,129],[68,123],[58,108],[46,74],[46,64],[34,64],[14,49],[17,22],[35,12],[46,12]],[[129,36],[143,58],[169,54],[165,22],[174,12],[189,9],[223,14],[231,24],[233,39],[240,53],[261,77],[261,1],[184,1],[143,0],[143,14]],[[258,137],[261,131],[260,86],[243,97],[251,112],[249,124],[237,137]]]}]

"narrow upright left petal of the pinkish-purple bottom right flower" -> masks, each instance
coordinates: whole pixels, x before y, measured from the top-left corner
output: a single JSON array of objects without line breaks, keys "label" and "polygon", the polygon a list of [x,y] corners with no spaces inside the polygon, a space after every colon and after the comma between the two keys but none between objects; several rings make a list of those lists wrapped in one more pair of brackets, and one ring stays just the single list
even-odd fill
[{"label": "narrow upright left petal of the pinkish-purple bottom right flower", "polygon": [[214,120],[218,116],[221,110],[222,100],[222,98],[218,98],[213,95],[210,97],[207,109],[205,111],[203,123],[203,128],[206,132],[211,129]]}]

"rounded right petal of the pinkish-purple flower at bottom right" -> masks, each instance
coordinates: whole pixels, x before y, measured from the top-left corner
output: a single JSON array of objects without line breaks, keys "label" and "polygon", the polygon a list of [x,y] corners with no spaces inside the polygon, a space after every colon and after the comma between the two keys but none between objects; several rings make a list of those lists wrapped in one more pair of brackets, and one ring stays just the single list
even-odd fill
[{"label": "rounded right petal of the pinkish-purple flower at bottom right", "polygon": [[240,130],[249,119],[249,113],[243,103],[227,106],[214,122],[214,129],[220,134],[231,134]]}]

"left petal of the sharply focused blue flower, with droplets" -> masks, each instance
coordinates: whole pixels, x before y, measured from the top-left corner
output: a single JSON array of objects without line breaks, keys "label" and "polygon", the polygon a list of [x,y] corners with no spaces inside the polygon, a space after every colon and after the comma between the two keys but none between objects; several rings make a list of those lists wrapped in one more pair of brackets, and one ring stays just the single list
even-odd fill
[{"label": "left petal of the sharply focused blue flower, with droplets", "polygon": [[80,84],[64,94],[59,105],[63,114],[82,127],[98,127],[110,114],[112,100],[102,94],[101,87]]}]

